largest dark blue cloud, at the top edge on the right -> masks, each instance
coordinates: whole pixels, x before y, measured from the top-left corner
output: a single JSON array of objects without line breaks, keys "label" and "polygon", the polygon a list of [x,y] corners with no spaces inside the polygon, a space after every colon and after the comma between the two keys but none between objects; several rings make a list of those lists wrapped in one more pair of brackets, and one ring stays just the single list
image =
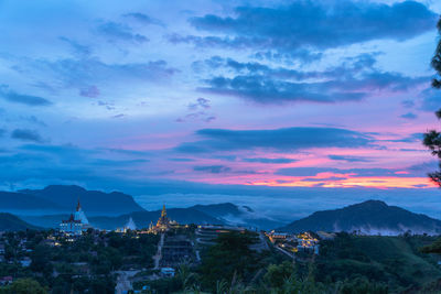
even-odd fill
[{"label": "largest dark blue cloud, at the top edge on the right", "polygon": [[[234,14],[206,14],[190,23],[206,36],[175,42],[289,52],[332,48],[372,40],[404,41],[434,30],[437,14],[416,1],[394,4],[354,1],[297,1],[290,6],[238,7]],[[175,36],[176,39],[176,36]]]}]

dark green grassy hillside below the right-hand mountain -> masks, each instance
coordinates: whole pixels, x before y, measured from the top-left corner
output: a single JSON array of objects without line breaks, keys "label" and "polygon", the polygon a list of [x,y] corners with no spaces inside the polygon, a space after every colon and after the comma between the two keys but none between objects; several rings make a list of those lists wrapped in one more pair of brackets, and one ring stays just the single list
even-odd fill
[{"label": "dark green grassy hillside below the right-hand mountain", "polygon": [[321,242],[316,277],[325,282],[364,276],[372,283],[386,284],[390,293],[421,287],[441,277],[435,257],[419,252],[434,240],[435,237],[429,236],[337,233],[335,239]]}]

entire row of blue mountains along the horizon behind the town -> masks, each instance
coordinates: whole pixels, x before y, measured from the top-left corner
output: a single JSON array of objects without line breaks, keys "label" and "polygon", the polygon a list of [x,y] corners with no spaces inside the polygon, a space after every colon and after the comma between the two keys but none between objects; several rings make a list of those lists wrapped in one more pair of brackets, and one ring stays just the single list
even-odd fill
[{"label": "entire row of blue mountains along the horizon behind the town", "polygon": [[[154,224],[161,214],[160,210],[146,210],[132,196],[123,193],[104,193],[62,185],[14,193],[0,192],[0,211],[19,215],[22,220],[34,226],[57,228],[60,221],[67,219],[75,210],[78,199],[89,222],[100,229],[123,227],[130,217],[139,228],[146,228],[150,222]],[[408,230],[430,235],[441,232],[440,220],[397,206],[388,206],[380,200],[367,200],[340,209],[316,211],[288,225],[254,211],[250,207],[232,203],[168,208],[168,215],[180,224],[238,225],[265,230],[279,228],[278,231],[288,232],[308,230],[359,231],[367,235],[399,235]],[[8,215],[4,220],[0,219],[0,228],[3,222],[9,224],[8,219],[11,217],[12,215]]]}]

